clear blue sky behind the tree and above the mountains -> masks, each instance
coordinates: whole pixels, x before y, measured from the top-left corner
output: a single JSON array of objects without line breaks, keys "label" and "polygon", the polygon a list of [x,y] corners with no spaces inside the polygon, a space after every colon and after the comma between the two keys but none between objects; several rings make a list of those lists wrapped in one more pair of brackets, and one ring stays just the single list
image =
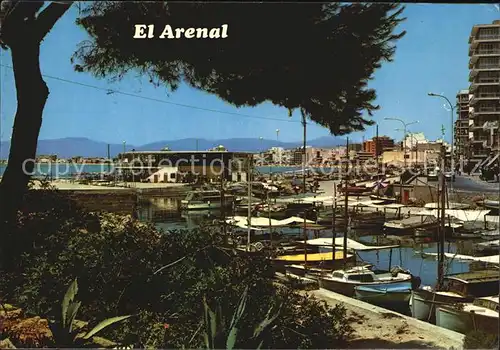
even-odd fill
[{"label": "clear blue sky behind the tree and above the mountains", "polygon": [[[259,137],[280,141],[297,141],[302,137],[299,115],[291,119],[285,109],[264,104],[255,108],[235,108],[202,92],[182,86],[167,96],[165,88],[155,88],[137,77],[108,84],[87,73],[76,73],[70,57],[86,33],[75,25],[78,12],[72,8],[55,25],[41,47],[42,73],[84,84],[139,94],[173,103],[199,106],[224,112],[273,118],[262,120],[226,115],[169,105],[78,86],[47,78],[50,96],[44,111],[40,139],[88,137],[97,141],[140,145],[180,138]],[[455,100],[456,92],[468,88],[468,37],[474,24],[487,24],[500,18],[498,5],[408,4],[408,18],[401,29],[407,35],[398,42],[394,62],[385,63],[370,83],[377,90],[376,103],[381,109],[374,119],[379,133],[401,138],[395,131],[400,125],[384,121],[398,117],[419,120],[412,132],[424,132],[430,139],[441,135],[441,124],[450,135],[450,113],[443,100],[427,96],[441,93]],[[341,49],[340,49],[341,50]],[[2,65],[11,66],[8,51],[1,51]],[[9,140],[16,109],[11,68],[0,67],[1,140]],[[275,120],[277,119],[277,120]],[[294,122],[290,122],[293,120]],[[375,134],[375,127],[351,137],[361,140]],[[327,129],[309,125],[308,138],[327,136]]]}]

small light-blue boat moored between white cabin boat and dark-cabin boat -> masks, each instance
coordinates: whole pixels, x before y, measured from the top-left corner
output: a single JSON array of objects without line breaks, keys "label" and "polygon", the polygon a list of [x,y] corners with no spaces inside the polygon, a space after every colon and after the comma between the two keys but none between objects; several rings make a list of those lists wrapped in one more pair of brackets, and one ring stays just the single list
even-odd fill
[{"label": "small light-blue boat moored between white cabin boat and dark-cabin boat", "polygon": [[354,287],[356,299],[376,305],[405,304],[408,306],[411,290],[410,282]]}]

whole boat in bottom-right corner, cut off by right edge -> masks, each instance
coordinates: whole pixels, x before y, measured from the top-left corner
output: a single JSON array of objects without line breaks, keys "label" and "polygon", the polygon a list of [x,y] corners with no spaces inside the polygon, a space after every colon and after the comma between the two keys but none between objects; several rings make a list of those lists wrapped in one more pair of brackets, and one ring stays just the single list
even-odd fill
[{"label": "whole boat in bottom-right corner, cut off by right edge", "polygon": [[458,333],[480,330],[498,334],[498,296],[477,298],[472,303],[436,308],[436,325]]}]

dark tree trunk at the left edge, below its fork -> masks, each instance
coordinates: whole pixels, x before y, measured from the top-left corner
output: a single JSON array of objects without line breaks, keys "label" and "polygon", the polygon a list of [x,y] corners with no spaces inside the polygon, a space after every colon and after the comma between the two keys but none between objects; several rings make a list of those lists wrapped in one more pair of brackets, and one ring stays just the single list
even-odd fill
[{"label": "dark tree trunk at the left edge, below its fork", "polygon": [[[17,93],[9,162],[0,183],[0,224],[12,223],[34,171],[38,134],[49,90],[40,71],[40,41],[24,37],[11,46]],[[4,233],[3,229],[0,232]]]}]

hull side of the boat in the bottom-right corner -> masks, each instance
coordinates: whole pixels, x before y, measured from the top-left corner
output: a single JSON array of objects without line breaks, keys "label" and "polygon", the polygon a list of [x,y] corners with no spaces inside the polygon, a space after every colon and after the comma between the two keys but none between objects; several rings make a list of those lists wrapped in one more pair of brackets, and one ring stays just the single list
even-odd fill
[{"label": "hull side of the boat in the bottom-right corner", "polygon": [[471,330],[496,334],[498,333],[498,316],[481,315],[449,306],[439,306],[436,307],[436,325],[462,334]]}]

